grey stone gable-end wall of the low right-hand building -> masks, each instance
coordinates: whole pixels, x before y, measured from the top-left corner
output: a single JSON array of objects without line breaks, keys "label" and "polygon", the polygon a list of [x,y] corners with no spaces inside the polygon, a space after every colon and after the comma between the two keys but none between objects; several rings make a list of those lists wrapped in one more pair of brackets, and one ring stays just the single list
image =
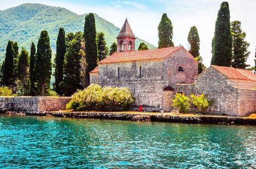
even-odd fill
[{"label": "grey stone gable-end wall of the low right-hand building", "polygon": [[214,100],[212,114],[238,115],[238,90],[216,69],[210,67],[196,78],[195,93]]}]

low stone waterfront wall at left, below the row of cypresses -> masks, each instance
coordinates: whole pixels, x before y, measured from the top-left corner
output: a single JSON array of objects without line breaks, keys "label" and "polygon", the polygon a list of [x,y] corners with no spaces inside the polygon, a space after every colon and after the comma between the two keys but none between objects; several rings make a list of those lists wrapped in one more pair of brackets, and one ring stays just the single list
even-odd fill
[{"label": "low stone waterfront wall at left, below the row of cypresses", "polygon": [[70,97],[0,97],[0,111],[57,111],[65,110]]}]

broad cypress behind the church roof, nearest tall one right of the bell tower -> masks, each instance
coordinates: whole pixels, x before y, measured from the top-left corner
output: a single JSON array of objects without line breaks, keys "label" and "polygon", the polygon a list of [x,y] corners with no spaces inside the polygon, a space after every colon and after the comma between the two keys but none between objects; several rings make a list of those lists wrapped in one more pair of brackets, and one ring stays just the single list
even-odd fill
[{"label": "broad cypress behind the church roof, nearest tall one right of the bell tower", "polygon": [[174,47],[173,43],[173,25],[171,20],[164,13],[158,25],[158,48]]}]

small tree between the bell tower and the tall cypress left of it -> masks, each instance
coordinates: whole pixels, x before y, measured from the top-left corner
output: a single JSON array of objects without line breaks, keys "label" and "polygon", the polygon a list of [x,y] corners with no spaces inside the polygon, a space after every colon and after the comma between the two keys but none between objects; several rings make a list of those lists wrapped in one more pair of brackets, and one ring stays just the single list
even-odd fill
[{"label": "small tree between the bell tower and the tall cypress left of it", "polygon": [[109,48],[106,47],[106,40],[103,32],[97,33],[98,60],[105,59],[109,54]]}]

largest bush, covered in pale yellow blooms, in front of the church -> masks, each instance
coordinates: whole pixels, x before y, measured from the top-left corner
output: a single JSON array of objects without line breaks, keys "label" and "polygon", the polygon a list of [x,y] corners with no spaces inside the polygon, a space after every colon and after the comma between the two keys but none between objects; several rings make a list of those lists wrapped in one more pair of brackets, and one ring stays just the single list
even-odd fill
[{"label": "largest bush, covered in pale yellow blooms, in front of the church", "polygon": [[73,94],[66,108],[74,110],[126,110],[134,103],[134,100],[130,89],[101,88],[99,85],[92,84]]}]

